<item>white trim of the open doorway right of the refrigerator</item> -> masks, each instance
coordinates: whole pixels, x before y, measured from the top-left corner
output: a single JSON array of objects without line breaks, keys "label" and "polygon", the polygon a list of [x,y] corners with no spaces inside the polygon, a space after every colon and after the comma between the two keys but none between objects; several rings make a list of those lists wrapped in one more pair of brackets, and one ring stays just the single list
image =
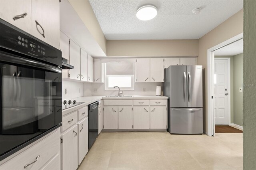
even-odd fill
[{"label": "white trim of the open doorway right of the refrigerator", "polygon": [[230,43],[236,42],[243,38],[243,33],[238,34],[214,47],[207,50],[207,132],[208,136],[215,136],[215,121],[214,121],[214,51],[224,47]]}]

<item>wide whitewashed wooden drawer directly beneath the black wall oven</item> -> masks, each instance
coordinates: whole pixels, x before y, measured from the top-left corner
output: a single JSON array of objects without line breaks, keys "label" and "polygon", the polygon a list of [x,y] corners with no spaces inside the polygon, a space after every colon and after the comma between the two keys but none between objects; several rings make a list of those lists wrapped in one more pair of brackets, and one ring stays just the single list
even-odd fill
[{"label": "wide whitewashed wooden drawer directly beneath the black wall oven", "polygon": [[[39,139],[40,140],[40,139]],[[41,169],[55,155],[60,154],[60,130],[24,150],[0,166],[1,170],[36,170]],[[38,157],[38,160],[36,158]],[[33,164],[26,166],[27,164]],[[59,167],[60,169],[60,167]]]}]

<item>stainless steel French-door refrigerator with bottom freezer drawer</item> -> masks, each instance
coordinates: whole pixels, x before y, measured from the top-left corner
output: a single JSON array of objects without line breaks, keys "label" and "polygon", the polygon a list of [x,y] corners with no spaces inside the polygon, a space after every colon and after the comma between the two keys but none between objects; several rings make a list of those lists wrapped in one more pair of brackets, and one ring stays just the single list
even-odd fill
[{"label": "stainless steel French-door refrigerator with bottom freezer drawer", "polygon": [[171,65],[165,69],[164,96],[168,99],[171,134],[203,133],[202,65]]}]

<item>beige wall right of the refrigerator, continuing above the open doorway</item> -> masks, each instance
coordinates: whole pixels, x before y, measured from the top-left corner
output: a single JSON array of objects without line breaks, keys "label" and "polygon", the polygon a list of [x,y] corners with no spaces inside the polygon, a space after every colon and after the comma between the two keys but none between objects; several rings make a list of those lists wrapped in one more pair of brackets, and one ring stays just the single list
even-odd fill
[{"label": "beige wall right of the refrigerator, continuing above the open doorway", "polygon": [[208,114],[207,114],[207,50],[219,43],[222,43],[238,34],[243,32],[243,10],[240,10],[222,24],[208,32],[202,38],[199,39],[199,55],[197,58],[197,64],[203,65],[203,97],[204,97],[204,132],[207,132],[208,128]]}]

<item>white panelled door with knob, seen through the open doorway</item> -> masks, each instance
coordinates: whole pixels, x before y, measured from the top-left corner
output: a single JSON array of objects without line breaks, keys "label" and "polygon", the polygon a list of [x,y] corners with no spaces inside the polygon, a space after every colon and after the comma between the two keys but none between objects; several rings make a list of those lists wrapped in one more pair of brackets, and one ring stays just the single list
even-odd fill
[{"label": "white panelled door with knob, seen through the open doorway", "polygon": [[228,125],[228,59],[214,59],[214,65],[215,125]]}]

